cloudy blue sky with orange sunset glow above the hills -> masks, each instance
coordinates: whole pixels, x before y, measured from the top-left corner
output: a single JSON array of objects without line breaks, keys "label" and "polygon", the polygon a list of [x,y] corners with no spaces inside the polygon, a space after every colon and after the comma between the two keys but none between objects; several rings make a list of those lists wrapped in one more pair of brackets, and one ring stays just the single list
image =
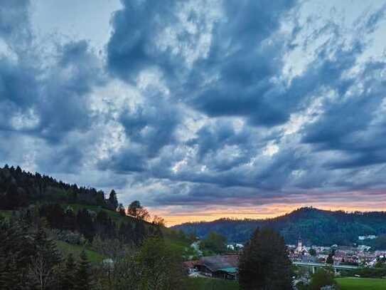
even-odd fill
[{"label": "cloudy blue sky with orange sunset glow above the hills", "polygon": [[168,225],[385,210],[385,11],[0,0],[0,163],[114,188]]}]

